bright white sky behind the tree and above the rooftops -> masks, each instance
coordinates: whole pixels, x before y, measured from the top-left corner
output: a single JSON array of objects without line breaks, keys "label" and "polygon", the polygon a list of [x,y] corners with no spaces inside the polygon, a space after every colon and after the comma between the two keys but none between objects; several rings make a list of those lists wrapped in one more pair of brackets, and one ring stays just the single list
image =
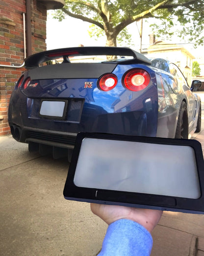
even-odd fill
[{"label": "bright white sky behind the tree and above the rooftops", "polygon": [[[52,11],[48,11],[47,19],[47,50],[66,48],[66,47],[77,47],[80,44],[83,46],[105,46],[105,36],[95,40],[89,36],[88,30],[91,25],[88,22],[81,21],[67,16],[66,19],[59,22],[52,18]],[[140,27],[140,24],[138,24]],[[135,51],[140,50],[140,37],[136,23],[132,23],[128,26],[129,32],[132,34],[132,41],[134,45],[131,48]],[[143,48],[145,45],[149,44],[149,34],[151,34],[151,28],[147,22],[143,22]],[[175,38],[172,43],[182,43],[178,38]],[[126,47],[127,45],[121,45]],[[203,47],[198,47],[196,50],[193,48],[192,44],[184,45],[187,50],[189,50],[195,57],[200,57],[203,54]]]}]

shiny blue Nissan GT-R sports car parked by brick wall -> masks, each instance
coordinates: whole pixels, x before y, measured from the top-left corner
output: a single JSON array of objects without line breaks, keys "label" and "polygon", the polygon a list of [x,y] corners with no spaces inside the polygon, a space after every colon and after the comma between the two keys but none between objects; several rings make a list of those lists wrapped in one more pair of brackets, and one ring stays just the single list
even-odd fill
[{"label": "shiny blue Nissan GT-R sports car parked by brick wall", "polygon": [[[13,137],[30,151],[71,156],[78,132],[189,138],[201,100],[179,68],[123,47],[49,50],[25,60],[12,93]],[[70,158],[70,157],[69,157]]]}]

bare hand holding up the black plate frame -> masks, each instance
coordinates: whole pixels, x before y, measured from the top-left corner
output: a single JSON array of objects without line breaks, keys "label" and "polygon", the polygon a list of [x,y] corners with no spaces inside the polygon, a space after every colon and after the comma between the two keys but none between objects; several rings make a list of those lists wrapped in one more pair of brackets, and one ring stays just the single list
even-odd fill
[{"label": "bare hand holding up the black plate frame", "polygon": [[128,219],[141,224],[149,232],[153,231],[163,213],[163,211],[159,210],[95,203],[91,203],[91,210],[108,225],[117,220]]}]

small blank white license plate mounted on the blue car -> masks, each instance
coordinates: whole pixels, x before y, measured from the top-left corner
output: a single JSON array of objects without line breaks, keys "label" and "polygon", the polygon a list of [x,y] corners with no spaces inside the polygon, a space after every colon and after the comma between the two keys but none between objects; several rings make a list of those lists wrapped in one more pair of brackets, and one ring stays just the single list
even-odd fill
[{"label": "small blank white license plate mounted on the blue car", "polygon": [[66,100],[42,100],[40,107],[40,116],[50,118],[65,118],[66,114]]}]

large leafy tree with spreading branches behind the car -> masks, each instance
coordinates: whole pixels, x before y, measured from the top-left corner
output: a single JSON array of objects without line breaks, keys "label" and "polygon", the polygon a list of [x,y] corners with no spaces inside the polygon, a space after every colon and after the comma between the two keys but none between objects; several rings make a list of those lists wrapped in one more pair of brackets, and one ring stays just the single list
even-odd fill
[{"label": "large leafy tree with spreading branches behind the car", "polygon": [[106,36],[106,46],[116,46],[117,36],[130,35],[126,27],[141,19],[159,20],[153,25],[157,35],[175,33],[174,24],[181,29],[178,35],[190,35],[189,41],[204,42],[204,0],[65,0],[65,6],[56,10],[54,18],[62,20],[66,15],[89,22],[100,30],[94,32]]}]

